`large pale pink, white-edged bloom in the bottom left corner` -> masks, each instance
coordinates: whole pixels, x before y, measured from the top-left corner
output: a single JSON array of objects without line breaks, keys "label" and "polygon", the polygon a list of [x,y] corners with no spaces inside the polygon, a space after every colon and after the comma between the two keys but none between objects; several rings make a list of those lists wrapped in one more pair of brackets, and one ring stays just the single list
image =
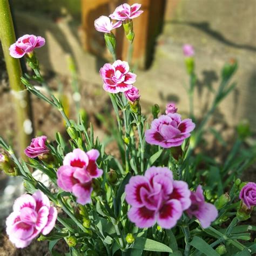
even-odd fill
[{"label": "large pale pink, white-edged bloom in the bottom left corner", "polygon": [[55,226],[57,210],[39,190],[17,198],[13,210],[6,219],[6,233],[17,248],[28,246],[39,233],[49,234]]}]

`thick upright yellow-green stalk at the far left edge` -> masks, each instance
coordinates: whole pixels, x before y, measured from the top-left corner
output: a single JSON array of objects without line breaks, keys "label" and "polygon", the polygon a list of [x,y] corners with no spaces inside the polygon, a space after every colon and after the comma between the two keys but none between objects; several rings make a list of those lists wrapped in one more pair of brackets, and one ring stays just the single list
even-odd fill
[{"label": "thick upright yellow-green stalk at the far left edge", "polygon": [[24,149],[29,145],[31,135],[26,134],[23,125],[26,119],[31,120],[31,109],[28,91],[21,83],[22,69],[19,59],[12,58],[9,54],[9,47],[16,42],[14,24],[10,12],[8,0],[0,1],[0,37],[4,52],[6,69],[8,72],[9,83],[14,97],[14,109],[16,112],[16,127],[18,132],[19,152],[25,157]]}]

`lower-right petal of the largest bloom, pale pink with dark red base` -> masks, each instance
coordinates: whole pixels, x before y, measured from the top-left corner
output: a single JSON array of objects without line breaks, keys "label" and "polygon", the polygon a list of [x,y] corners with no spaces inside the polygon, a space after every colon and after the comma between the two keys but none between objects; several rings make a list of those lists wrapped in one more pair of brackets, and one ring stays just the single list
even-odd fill
[{"label": "lower-right petal of the largest bloom, pale pink with dark red base", "polygon": [[157,223],[163,228],[170,229],[176,226],[182,213],[180,202],[176,199],[171,199],[161,207],[157,216]]}]

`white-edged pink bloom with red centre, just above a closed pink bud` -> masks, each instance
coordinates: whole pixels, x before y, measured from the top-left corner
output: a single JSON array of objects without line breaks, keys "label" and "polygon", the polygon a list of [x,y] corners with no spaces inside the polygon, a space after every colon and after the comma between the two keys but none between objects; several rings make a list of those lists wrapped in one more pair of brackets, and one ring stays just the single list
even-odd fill
[{"label": "white-edged pink bloom with red centre, just above a closed pink bud", "polygon": [[99,71],[104,82],[104,90],[118,93],[131,89],[132,84],[136,82],[136,75],[129,72],[129,69],[129,64],[119,59],[113,65],[105,64]]}]

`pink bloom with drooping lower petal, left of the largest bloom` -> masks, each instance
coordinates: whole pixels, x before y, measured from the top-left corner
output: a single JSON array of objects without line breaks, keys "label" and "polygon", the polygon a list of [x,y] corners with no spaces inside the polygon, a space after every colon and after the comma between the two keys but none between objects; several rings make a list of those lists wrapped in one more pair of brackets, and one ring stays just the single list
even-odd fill
[{"label": "pink bloom with drooping lower petal, left of the largest bloom", "polygon": [[99,151],[92,149],[84,152],[75,149],[66,154],[63,166],[57,171],[57,184],[65,191],[72,192],[79,204],[91,202],[92,179],[102,176],[103,171],[98,169],[96,160]]}]

